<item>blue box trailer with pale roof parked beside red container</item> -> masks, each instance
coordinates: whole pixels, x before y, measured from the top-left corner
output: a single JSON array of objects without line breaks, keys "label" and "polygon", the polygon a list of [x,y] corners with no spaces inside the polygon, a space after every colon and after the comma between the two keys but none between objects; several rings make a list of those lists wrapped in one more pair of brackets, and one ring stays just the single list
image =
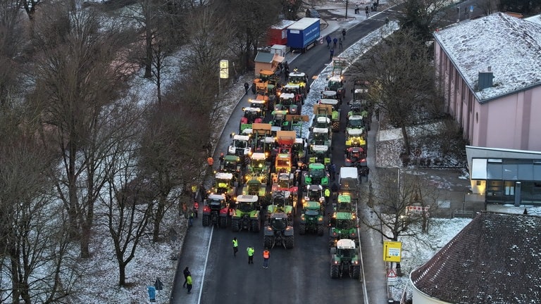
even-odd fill
[{"label": "blue box trailer with pale roof parked beside red container", "polygon": [[319,23],[319,18],[302,18],[287,27],[287,46],[304,53],[311,46],[318,44]]}]

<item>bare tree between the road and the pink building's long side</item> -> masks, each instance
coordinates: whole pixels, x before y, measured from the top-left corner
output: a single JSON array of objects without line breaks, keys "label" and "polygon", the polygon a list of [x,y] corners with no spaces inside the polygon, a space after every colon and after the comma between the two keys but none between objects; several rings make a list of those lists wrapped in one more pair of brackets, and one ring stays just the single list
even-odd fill
[{"label": "bare tree between the road and the pink building's long side", "polygon": [[373,46],[352,71],[370,82],[368,96],[394,127],[402,129],[406,155],[411,154],[409,127],[440,113],[431,48],[410,30],[399,30]]}]

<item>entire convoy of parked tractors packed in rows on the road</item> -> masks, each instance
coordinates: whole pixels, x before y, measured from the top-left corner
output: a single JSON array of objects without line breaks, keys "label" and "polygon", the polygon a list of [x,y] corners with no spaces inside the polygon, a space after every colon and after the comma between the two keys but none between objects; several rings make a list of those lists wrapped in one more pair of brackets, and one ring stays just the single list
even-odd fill
[{"label": "entire convoy of parked tractors packed in rows on the road", "polygon": [[[294,220],[298,218],[300,235],[323,236],[328,231],[331,277],[349,274],[357,279],[356,163],[340,168],[339,195],[332,207],[326,204],[324,195],[331,188],[332,135],[343,128],[340,108],[345,98],[345,61],[335,58],[333,66],[321,99],[313,105],[313,120],[300,115],[308,92],[304,73],[294,71],[286,84],[280,84],[275,75],[261,71],[254,81],[256,98],[242,109],[239,133],[231,134],[228,155],[220,158],[214,186],[204,204],[203,224],[230,226],[235,232],[260,232],[262,228],[264,247],[293,248]],[[356,104],[356,97],[359,94],[354,92],[350,106]],[[352,106],[346,127],[347,148],[366,151],[367,129],[355,127],[365,128],[366,122],[356,121],[363,113],[356,114]],[[306,122],[311,122],[306,128],[309,137],[303,134]],[[366,153],[359,155],[366,165]],[[349,156],[346,159],[353,160]],[[332,213],[326,216],[330,208]]]}]

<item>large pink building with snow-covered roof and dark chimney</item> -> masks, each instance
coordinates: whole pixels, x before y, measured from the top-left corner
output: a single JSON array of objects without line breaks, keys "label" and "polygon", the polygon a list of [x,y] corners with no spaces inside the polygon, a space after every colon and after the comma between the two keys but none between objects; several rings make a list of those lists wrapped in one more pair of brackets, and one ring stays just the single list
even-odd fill
[{"label": "large pink building with snow-covered roof and dark chimney", "polygon": [[495,13],[434,37],[444,110],[471,146],[541,151],[541,25]]}]

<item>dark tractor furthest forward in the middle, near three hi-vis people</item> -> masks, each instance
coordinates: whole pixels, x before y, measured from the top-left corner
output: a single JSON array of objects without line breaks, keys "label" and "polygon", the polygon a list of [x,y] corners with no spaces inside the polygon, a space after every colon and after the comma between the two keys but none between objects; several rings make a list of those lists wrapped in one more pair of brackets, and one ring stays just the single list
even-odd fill
[{"label": "dark tractor furthest forward in the middle, near three hi-vis people", "polygon": [[272,213],[265,225],[263,247],[273,248],[277,244],[287,249],[294,246],[293,224],[285,213]]}]

